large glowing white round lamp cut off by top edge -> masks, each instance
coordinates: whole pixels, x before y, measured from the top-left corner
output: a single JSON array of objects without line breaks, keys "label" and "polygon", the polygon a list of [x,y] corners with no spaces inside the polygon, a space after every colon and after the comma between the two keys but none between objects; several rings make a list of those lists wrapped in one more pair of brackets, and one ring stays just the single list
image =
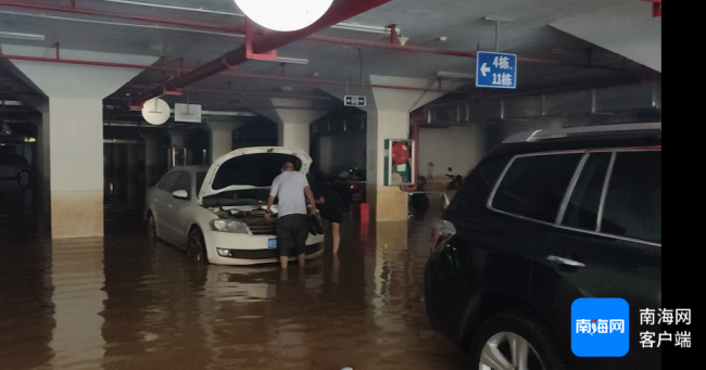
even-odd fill
[{"label": "large glowing white round lamp cut off by top edge", "polygon": [[311,26],[331,7],[333,0],[235,0],[240,10],[256,24],[278,31]]}]

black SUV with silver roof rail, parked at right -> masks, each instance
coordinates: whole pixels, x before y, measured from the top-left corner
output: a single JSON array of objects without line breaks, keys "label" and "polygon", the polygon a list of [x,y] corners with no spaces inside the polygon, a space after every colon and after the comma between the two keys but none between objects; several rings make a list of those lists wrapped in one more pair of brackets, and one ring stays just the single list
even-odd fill
[{"label": "black SUV with silver roof rail, parked at right", "polygon": [[[628,302],[626,356],[572,354],[582,297]],[[661,369],[639,336],[640,309],[661,308],[661,124],[538,130],[495,148],[434,229],[425,302],[474,369]]]}]

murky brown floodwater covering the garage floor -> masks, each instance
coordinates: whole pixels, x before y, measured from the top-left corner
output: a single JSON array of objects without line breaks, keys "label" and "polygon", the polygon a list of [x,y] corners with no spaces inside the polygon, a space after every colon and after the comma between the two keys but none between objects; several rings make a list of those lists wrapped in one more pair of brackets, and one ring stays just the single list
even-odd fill
[{"label": "murky brown floodwater covering the garage floor", "polygon": [[0,217],[0,369],[465,369],[424,311],[427,219],[344,221],[282,273],[196,265],[128,212],[53,242]]}]

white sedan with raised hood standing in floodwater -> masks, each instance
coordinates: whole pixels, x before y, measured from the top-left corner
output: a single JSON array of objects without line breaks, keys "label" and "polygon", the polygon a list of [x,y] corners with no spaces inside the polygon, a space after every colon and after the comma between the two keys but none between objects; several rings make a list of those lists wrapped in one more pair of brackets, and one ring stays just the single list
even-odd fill
[{"label": "white sedan with raised hood standing in floodwater", "polygon": [[[211,264],[277,261],[277,206],[272,219],[265,219],[265,208],[285,162],[307,173],[312,158],[294,149],[260,146],[232,151],[210,167],[173,168],[147,190],[148,234]],[[307,259],[324,253],[323,242],[324,235],[308,235]]]}]

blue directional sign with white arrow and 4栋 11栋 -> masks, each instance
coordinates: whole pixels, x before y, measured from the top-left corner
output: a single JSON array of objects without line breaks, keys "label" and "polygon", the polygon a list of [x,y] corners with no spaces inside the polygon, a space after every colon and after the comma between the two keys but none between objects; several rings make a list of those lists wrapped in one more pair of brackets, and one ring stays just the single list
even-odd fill
[{"label": "blue directional sign with white arrow and 4\u680b 11\u680b", "polygon": [[517,55],[479,51],[476,63],[476,87],[517,88]]}]

